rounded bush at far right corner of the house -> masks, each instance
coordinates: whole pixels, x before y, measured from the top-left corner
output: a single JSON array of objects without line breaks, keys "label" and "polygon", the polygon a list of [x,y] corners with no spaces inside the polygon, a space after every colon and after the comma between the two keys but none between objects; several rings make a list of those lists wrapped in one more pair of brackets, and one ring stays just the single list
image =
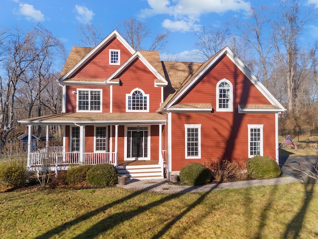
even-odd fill
[{"label": "rounded bush at far right corner of the house", "polygon": [[254,178],[277,178],[281,174],[279,165],[266,156],[255,156],[246,163],[246,169]]}]

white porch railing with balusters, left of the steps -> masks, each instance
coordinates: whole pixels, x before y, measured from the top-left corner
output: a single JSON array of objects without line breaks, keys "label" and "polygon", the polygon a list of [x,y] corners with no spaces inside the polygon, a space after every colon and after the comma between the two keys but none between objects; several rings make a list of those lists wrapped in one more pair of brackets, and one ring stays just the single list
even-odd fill
[{"label": "white porch railing with balusters, left of the steps", "polygon": [[45,148],[38,152],[30,153],[30,167],[41,165],[69,165],[69,164],[101,164],[109,163],[116,165],[116,152],[98,152],[98,153],[84,153],[84,162],[79,160],[79,152],[62,152],[61,148],[56,148],[54,151],[52,148]]}]

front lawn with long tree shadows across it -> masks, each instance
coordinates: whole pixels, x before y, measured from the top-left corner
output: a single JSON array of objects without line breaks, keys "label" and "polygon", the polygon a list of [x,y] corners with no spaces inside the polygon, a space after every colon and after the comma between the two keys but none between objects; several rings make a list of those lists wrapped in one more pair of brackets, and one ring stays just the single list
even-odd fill
[{"label": "front lawn with long tree shadows across it", "polygon": [[0,193],[0,238],[316,238],[318,184],[157,194],[120,187]]}]

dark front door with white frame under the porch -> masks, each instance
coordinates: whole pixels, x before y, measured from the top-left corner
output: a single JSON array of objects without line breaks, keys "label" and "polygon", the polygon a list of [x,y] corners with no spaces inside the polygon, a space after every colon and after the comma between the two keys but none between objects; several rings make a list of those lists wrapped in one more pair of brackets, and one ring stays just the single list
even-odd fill
[{"label": "dark front door with white frame under the porch", "polygon": [[127,128],[127,159],[148,157],[148,127]]}]

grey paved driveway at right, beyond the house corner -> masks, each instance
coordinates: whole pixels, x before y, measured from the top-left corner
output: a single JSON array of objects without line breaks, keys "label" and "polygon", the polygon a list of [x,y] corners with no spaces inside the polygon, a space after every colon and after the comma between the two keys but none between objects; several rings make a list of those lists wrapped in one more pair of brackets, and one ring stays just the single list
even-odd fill
[{"label": "grey paved driveway at right, beyond the house corner", "polygon": [[[318,156],[286,156],[286,157],[280,157],[279,158],[279,165],[281,166],[282,173],[287,176],[291,176],[294,178],[302,178],[303,173],[295,170],[302,169],[302,167],[299,165],[299,163],[303,163],[307,169],[309,169],[312,172],[315,172],[315,169],[312,165],[315,165],[317,163]],[[312,165],[311,165],[312,164]],[[291,167],[293,168],[291,168]],[[305,170],[307,170],[305,168]]]}]

